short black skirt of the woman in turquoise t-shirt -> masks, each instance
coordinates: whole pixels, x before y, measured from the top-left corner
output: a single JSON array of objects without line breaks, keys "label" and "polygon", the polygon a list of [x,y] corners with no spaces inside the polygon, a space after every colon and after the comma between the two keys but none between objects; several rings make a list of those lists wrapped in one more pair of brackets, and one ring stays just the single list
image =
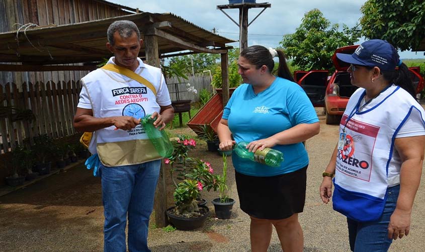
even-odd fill
[{"label": "short black skirt of the woman in turquoise t-shirt", "polygon": [[[308,165],[307,165],[308,166]],[[272,177],[235,172],[240,209],[259,219],[285,219],[304,209],[307,166]]]}]

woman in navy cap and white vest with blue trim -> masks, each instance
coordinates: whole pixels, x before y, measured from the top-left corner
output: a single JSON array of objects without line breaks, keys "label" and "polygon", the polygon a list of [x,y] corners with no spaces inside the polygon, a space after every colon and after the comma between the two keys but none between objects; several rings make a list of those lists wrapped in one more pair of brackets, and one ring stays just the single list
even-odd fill
[{"label": "woman in navy cap and white vest with blue trim", "polygon": [[[347,216],[352,251],[387,251],[409,233],[425,146],[425,112],[407,66],[387,41],[369,40],[350,63],[351,96],[339,140],[323,172],[320,197]],[[396,67],[398,66],[398,70]]]}]

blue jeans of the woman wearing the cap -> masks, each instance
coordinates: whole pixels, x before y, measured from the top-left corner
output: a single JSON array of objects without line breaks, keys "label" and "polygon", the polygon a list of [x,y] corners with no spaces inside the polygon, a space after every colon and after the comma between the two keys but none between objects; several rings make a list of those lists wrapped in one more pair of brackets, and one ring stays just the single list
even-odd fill
[{"label": "blue jeans of the woman wearing the cap", "polygon": [[387,251],[392,239],[388,239],[388,224],[397,204],[400,186],[387,189],[384,212],[376,221],[358,222],[347,218],[351,251]]}]

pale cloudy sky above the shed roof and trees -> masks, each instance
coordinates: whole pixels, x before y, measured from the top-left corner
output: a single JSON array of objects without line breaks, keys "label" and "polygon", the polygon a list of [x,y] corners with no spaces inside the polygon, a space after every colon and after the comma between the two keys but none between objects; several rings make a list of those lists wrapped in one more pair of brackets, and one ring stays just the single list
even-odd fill
[{"label": "pale cloudy sky above the shed roof and trees", "polygon": [[[233,40],[238,40],[238,27],[227,18],[217,5],[227,5],[227,0],[108,0],[109,2],[139,8],[143,12],[173,13],[206,30],[216,28],[218,34]],[[248,27],[248,46],[264,45],[277,47],[284,34],[294,33],[301,24],[304,14],[314,8],[319,9],[332,24],[343,24],[353,27],[359,21],[360,8],[365,0],[269,0],[271,8],[266,9]],[[257,3],[263,3],[258,0]],[[263,8],[253,8],[248,11],[248,22],[260,13]],[[235,21],[238,21],[239,10],[224,10]],[[232,43],[238,47],[239,43]],[[401,52],[402,58],[424,58],[423,52]]]}]

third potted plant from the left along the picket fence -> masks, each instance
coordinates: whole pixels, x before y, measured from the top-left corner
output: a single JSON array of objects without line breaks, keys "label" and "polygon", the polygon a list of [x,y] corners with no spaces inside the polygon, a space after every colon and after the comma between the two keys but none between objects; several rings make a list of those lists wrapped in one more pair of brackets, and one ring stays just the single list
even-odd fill
[{"label": "third potted plant from the left along the picket fence", "polygon": [[51,162],[46,162],[46,157],[54,150],[52,139],[47,134],[38,135],[34,137],[33,148],[37,156],[35,167],[38,174],[49,174]]}]

